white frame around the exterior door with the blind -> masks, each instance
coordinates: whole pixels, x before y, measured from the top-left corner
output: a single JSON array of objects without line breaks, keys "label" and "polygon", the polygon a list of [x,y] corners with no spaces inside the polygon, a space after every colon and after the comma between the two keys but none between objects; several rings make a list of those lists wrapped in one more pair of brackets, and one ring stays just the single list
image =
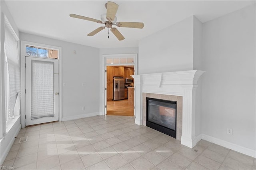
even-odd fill
[{"label": "white frame around the exterior door with the blind", "polygon": [[53,46],[53,45],[46,45],[41,43],[35,43],[35,42],[27,42],[27,41],[21,41],[20,45],[20,71],[21,71],[21,128],[26,127],[26,95],[25,95],[25,89],[26,89],[26,72],[25,72],[25,63],[26,63],[26,45],[36,46],[36,47],[45,47],[50,49],[55,49],[59,51],[58,56],[58,67],[59,67],[59,105],[58,105],[58,121],[62,121],[62,48]]}]

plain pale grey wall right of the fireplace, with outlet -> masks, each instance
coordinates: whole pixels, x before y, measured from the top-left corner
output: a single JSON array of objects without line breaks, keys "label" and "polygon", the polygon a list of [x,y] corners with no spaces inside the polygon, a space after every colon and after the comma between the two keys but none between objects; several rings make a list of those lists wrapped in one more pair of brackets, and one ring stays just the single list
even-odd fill
[{"label": "plain pale grey wall right of the fireplace, with outlet", "polygon": [[255,5],[203,24],[202,133],[252,150],[255,36]]}]

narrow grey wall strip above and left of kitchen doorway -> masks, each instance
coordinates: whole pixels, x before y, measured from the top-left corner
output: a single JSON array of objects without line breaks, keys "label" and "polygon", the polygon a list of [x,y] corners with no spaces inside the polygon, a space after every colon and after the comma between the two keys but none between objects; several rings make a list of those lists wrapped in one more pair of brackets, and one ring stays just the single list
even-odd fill
[{"label": "narrow grey wall strip above and left of kitchen doorway", "polygon": [[138,53],[138,47],[126,47],[126,48],[101,48],[100,49],[100,115],[104,113],[104,105],[105,105],[105,77],[104,75],[104,58],[102,55],[104,54],[134,54]]}]

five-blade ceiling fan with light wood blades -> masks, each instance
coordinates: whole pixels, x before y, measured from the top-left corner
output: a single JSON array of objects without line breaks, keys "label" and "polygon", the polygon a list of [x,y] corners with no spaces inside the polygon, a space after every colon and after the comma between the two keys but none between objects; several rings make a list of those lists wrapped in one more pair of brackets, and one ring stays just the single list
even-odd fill
[{"label": "five-blade ceiling fan with light wood blades", "polygon": [[[89,34],[87,34],[87,36],[94,36],[95,34],[100,32],[101,30],[104,30],[107,27],[108,29],[111,28],[110,31],[120,41],[124,40],[124,36],[116,28],[113,28],[112,27],[113,25],[118,26],[118,27],[127,27],[127,28],[143,28],[144,27],[143,22],[116,22],[116,20],[117,20],[116,12],[118,9],[118,4],[108,1],[105,4],[105,7],[107,9],[107,13],[101,15],[101,20],[96,20],[93,18],[88,18],[86,16],[80,16],[80,15],[76,15],[76,14],[70,14],[69,16],[73,17],[73,18],[79,18],[79,19],[83,19],[83,20],[97,22],[100,24],[105,24],[105,26],[99,27],[96,30],[90,32]],[[109,34],[109,30],[108,30],[108,34]]]}]

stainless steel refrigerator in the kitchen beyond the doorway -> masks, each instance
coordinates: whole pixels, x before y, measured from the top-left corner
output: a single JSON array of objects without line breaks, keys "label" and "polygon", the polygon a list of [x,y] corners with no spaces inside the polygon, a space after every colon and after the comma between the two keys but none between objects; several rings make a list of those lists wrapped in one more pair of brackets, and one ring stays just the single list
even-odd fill
[{"label": "stainless steel refrigerator in the kitchen beyond the doorway", "polygon": [[114,100],[124,99],[124,78],[123,77],[113,77],[114,79]]}]

